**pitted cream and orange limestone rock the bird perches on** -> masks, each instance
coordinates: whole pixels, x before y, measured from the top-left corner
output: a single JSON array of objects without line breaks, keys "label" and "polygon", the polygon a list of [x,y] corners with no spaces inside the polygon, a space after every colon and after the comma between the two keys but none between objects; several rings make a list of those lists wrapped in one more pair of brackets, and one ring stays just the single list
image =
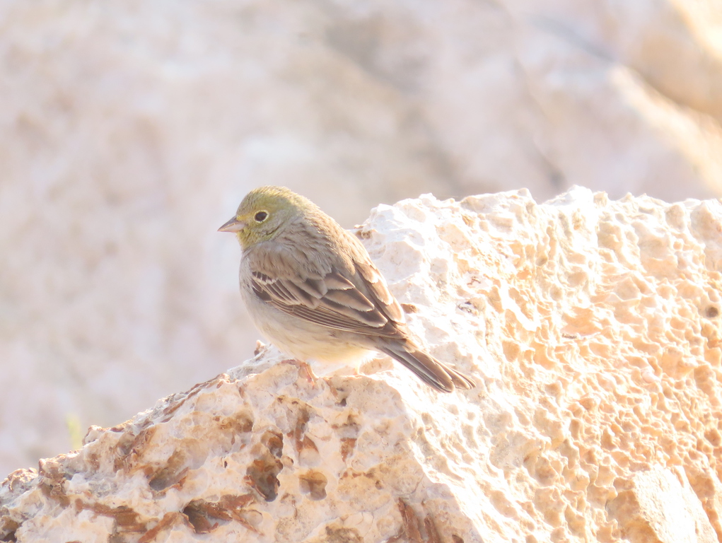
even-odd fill
[{"label": "pitted cream and orange limestone rock the bird perches on", "polygon": [[0,486],[17,542],[722,537],[722,204],[573,188],[380,206],[357,230],[431,352],[256,357]]}]

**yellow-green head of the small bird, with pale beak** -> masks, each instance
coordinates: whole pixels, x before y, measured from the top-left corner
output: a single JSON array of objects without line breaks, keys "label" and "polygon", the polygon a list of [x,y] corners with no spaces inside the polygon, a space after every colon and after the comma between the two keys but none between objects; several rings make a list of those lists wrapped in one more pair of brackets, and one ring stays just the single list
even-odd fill
[{"label": "yellow-green head of the small bird, with pale beak", "polygon": [[240,202],[235,217],[218,231],[235,233],[245,251],[257,243],[274,239],[284,225],[313,207],[308,199],[285,187],[254,188]]}]

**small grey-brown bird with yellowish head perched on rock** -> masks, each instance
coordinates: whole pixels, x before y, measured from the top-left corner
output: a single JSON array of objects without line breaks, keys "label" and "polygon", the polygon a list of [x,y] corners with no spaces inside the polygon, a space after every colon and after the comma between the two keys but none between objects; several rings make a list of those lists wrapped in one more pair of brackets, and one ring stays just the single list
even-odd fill
[{"label": "small grey-brown bird with yellowish head perched on rock", "polygon": [[284,187],[255,188],[218,230],[237,235],[245,305],[287,355],[339,362],[375,350],[439,391],[475,386],[419,347],[364,246],[310,200]]}]

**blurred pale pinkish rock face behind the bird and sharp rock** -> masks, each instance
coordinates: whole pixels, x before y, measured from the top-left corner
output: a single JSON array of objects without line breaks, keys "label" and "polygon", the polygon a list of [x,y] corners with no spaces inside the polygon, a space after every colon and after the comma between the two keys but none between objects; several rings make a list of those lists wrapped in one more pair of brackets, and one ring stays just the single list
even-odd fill
[{"label": "blurred pale pinkish rock face behind the bird and sharp rock", "polygon": [[1,0],[0,479],[253,355],[255,186],[721,196],[721,6]]}]

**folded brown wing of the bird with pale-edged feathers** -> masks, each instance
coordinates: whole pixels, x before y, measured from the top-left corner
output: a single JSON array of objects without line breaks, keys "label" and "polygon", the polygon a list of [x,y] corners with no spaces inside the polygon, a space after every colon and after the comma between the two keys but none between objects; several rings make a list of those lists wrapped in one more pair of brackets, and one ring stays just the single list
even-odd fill
[{"label": "folded brown wing of the bird with pale-edged feathers", "polygon": [[363,253],[354,253],[352,259],[323,269],[304,259],[298,248],[266,251],[262,258],[248,254],[251,288],[284,313],[321,326],[404,337],[399,329],[404,322],[399,303],[373,262]]}]

